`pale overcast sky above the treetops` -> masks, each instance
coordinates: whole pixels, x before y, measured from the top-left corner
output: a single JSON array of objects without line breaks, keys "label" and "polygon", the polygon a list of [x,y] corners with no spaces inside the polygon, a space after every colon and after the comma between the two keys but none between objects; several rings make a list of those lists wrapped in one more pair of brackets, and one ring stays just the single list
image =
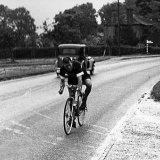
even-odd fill
[{"label": "pale overcast sky above the treetops", "polygon": [[[47,23],[51,23],[56,14],[76,5],[90,2],[93,4],[93,8],[98,11],[103,5],[116,1],[118,0],[0,0],[0,5],[10,9],[25,7],[30,12],[31,17],[35,19],[35,25],[39,27],[45,20]],[[119,0],[119,2],[124,1]],[[97,21],[99,20],[97,19]],[[41,30],[37,30],[37,32],[41,32]]]}]

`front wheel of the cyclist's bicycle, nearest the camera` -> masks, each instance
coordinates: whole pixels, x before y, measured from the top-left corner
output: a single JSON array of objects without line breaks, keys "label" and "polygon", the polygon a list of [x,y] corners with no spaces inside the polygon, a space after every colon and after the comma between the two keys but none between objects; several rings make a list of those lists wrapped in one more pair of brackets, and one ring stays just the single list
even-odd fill
[{"label": "front wheel of the cyclist's bicycle, nearest the camera", "polygon": [[74,117],[73,117],[72,99],[68,98],[64,107],[64,114],[63,114],[64,131],[67,135],[69,135],[71,132],[73,119]]}]

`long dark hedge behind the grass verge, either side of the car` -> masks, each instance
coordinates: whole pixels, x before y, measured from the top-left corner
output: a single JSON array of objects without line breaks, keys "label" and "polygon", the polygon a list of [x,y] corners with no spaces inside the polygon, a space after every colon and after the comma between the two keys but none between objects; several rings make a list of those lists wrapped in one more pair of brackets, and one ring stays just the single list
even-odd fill
[{"label": "long dark hedge behind the grass verge, either side of the car", "polygon": [[[119,48],[117,46],[110,48],[105,46],[89,46],[89,55],[103,56],[105,49],[106,56],[119,56]],[[146,47],[121,46],[120,53],[121,56],[146,54]],[[160,47],[149,47],[149,54],[160,54]],[[56,48],[18,48],[13,50],[13,54],[9,50],[0,50],[0,59],[12,58],[12,55],[14,59],[55,58]]]}]

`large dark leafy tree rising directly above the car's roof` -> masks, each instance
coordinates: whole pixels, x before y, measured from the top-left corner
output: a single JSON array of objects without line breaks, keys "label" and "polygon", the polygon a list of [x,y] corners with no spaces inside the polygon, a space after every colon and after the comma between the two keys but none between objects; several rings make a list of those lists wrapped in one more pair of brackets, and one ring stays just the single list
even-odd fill
[{"label": "large dark leafy tree rising directly above the car's roof", "polygon": [[95,34],[96,10],[92,3],[75,6],[55,16],[53,36],[58,43],[80,43]]}]

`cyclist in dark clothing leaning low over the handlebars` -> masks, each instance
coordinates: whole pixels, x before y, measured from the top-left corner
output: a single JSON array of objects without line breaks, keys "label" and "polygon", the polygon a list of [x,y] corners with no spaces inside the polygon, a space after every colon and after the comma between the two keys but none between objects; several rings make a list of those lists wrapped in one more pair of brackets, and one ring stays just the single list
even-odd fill
[{"label": "cyclist in dark clothing leaning low over the handlebars", "polygon": [[[63,93],[63,89],[65,86],[65,74],[68,75],[68,84],[78,85],[78,89],[81,89],[82,84],[86,86],[85,94],[82,100],[82,105],[80,106],[80,110],[85,109],[86,101],[92,88],[90,75],[87,73],[86,69],[81,66],[80,62],[76,60],[72,61],[70,57],[64,57],[63,65],[60,68],[61,82],[60,82],[59,94]],[[74,127],[74,124],[73,124],[73,127]]]}]

